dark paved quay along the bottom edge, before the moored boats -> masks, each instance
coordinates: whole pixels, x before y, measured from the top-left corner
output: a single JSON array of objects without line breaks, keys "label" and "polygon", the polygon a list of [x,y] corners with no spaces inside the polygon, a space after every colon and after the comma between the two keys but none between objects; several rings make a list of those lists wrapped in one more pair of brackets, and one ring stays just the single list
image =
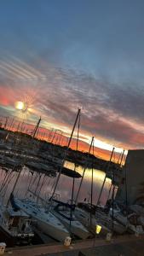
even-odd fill
[{"label": "dark paved quay along the bottom edge, before the moored boats", "polygon": [[142,256],[144,236],[118,236],[111,241],[90,239],[72,243],[70,247],[57,243],[31,247],[7,248],[5,256]]}]

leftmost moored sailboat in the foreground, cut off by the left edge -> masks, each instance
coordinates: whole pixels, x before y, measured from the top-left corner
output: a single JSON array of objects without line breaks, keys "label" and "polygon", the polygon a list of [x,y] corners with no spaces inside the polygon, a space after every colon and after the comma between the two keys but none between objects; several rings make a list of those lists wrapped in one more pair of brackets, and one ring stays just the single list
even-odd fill
[{"label": "leftmost moored sailboat in the foreground, cut off by the left edge", "polygon": [[[9,160],[9,158],[7,158]],[[26,159],[25,159],[26,160]],[[20,170],[18,171],[17,177],[14,182],[14,186],[12,192],[9,196],[9,200],[6,205],[3,203],[0,204],[0,237],[7,241],[8,246],[14,246],[15,244],[20,243],[30,243],[34,233],[32,231],[32,219],[26,212],[22,211],[20,207],[17,207],[14,203],[14,189],[20,179],[20,173],[25,165],[25,160],[20,163]],[[15,166],[15,162],[11,161]],[[9,185],[10,175],[14,172],[14,169],[7,173],[4,177],[3,184],[1,186],[1,196],[4,193],[5,188]],[[11,202],[12,206],[9,206],[9,202]]]}]

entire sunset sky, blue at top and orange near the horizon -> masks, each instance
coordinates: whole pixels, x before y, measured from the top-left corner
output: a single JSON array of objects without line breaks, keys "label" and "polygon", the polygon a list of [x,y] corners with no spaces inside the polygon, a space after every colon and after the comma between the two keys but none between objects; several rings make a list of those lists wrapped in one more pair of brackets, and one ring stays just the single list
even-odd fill
[{"label": "entire sunset sky, blue at top and orange near the horizon", "polygon": [[[144,2],[1,0],[0,115],[70,133],[104,149],[144,146]],[[120,149],[121,150],[121,149]]]}]

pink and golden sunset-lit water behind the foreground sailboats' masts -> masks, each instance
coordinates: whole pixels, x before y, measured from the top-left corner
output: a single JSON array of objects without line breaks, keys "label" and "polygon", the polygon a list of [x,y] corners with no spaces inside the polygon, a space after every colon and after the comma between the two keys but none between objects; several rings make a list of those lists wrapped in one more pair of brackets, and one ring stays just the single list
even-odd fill
[{"label": "pink and golden sunset-lit water behind the foreground sailboats' masts", "polygon": [[[67,168],[74,170],[74,164],[72,162],[66,161],[65,166]],[[78,166],[76,168],[76,171],[82,175],[84,168],[82,166]],[[87,201],[90,200],[91,174],[92,174],[91,169],[86,169],[85,175],[84,175],[84,182],[81,187],[78,201],[84,201],[84,199],[86,199]],[[3,183],[5,175],[6,175],[6,172],[0,169],[1,184]],[[17,175],[18,175],[18,172],[12,172],[11,176],[9,177],[9,183],[6,186],[6,188],[3,189],[2,191],[3,193],[1,193],[1,196],[3,197],[3,201],[8,200],[10,192],[13,189],[14,181]],[[105,177],[105,172],[102,172],[100,170],[94,170],[93,203],[97,202],[104,177]],[[74,198],[78,193],[80,180],[81,178],[75,178]],[[29,169],[27,167],[24,167],[20,174],[20,180],[17,183],[14,194],[20,197],[25,197],[26,190],[29,187],[30,181],[31,181],[30,190],[33,192],[37,192],[37,194],[39,194],[39,191],[40,191],[40,196],[43,197],[45,200],[47,200],[49,193],[51,193],[54,188],[55,178],[46,177],[44,176],[44,174],[38,174],[37,172],[33,172],[33,173],[29,172]],[[37,187],[37,184],[38,184],[38,187]],[[102,204],[105,204],[107,201],[107,195],[108,195],[110,186],[111,186],[111,180],[107,178],[105,187],[103,189],[103,193],[101,195]],[[36,191],[36,188],[37,188],[37,191]],[[61,174],[60,181],[56,189],[56,193],[60,195],[61,200],[69,201],[72,196],[72,177],[66,177],[65,175]]]}]

